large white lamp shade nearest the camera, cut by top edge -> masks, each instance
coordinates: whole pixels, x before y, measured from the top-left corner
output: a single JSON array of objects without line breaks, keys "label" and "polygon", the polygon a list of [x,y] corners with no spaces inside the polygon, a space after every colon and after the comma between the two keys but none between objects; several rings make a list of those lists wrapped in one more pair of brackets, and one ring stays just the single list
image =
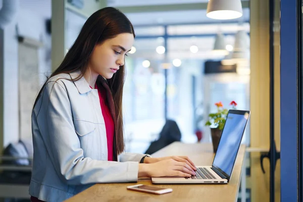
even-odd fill
[{"label": "large white lamp shade nearest the camera, cut by top edge", "polygon": [[206,16],[217,20],[240,18],[243,15],[241,0],[210,0]]}]

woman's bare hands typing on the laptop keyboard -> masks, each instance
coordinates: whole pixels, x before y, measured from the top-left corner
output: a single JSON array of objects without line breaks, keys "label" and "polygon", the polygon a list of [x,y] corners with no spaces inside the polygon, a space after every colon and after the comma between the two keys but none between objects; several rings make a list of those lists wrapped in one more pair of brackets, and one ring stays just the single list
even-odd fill
[{"label": "woman's bare hands typing on the laptop keyboard", "polygon": [[190,177],[191,175],[195,175],[195,172],[188,164],[171,158],[157,163],[139,164],[138,177]]}]

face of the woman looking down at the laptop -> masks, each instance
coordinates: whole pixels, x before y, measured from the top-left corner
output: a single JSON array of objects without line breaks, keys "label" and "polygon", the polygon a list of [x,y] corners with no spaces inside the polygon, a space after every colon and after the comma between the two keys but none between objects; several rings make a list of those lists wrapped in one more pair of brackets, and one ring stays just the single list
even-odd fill
[{"label": "face of the woman looking down at the laptop", "polygon": [[134,36],[130,33],[117,35],[95,46],[89,66],[91,70],[106,79],[110,79],[124,65],[124,58],[130,51]]}]

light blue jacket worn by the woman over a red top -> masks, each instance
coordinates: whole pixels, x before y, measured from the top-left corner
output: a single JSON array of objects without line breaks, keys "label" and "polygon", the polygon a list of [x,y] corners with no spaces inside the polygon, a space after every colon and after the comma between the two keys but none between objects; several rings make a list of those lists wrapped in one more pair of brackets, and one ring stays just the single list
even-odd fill
[{"label": "light blue jacket worn by the woman over a red top", "polygon": [[[48,80],[32,113],[34,146],[29,194],[63,201],[95,183],[136,182],[144,155],[123,153],[109,162],[98,92],[79,72]],[[106,185],[105,185],[106,186]]]}]

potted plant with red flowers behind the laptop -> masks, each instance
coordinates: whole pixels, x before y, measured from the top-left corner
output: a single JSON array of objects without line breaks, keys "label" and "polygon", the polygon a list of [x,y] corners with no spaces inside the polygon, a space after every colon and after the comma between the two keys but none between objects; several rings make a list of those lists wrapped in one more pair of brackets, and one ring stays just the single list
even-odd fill
[{"label": "potted plant with red flowers behind the laptop", "polygon": [[[217,152],[219,140],[222,134],[222,130],[226,121],[226,116],[228,113],[227,109],[223,108],[222,102],[215,103],[217,106],[217,112],[209,114],[209,120],[206,122],[206,126],[211,127],[211,135],[214,153]],[[237,103],[232,101],[229,105],[232,106],[232,109],[236,109]]]}]

